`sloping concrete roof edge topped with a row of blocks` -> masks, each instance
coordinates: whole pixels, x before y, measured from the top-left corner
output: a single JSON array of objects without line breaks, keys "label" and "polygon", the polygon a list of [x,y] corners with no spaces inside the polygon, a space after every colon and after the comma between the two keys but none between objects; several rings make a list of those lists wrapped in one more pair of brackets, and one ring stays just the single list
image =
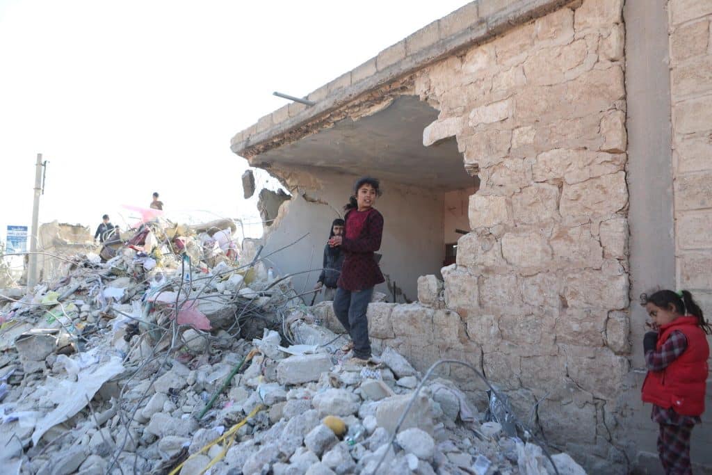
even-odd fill
[{"label": "sloping concrete roof edge topped with a row of blocks", "polygon": [[263,116],[234,135],[231,150],[252,162],[263,152],[299,140],[320,127],[329,127],[332,113],[364,100],[370,91],[570,3],[571,0],[472,1],[314,90],[307,99],[315,105],[291,103]]}]

